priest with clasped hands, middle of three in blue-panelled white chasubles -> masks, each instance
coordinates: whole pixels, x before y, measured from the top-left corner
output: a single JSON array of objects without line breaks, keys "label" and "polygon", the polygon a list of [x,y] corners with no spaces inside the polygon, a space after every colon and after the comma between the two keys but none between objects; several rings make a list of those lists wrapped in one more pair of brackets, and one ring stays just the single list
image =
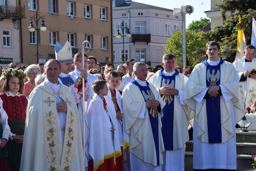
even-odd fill
[{"label": "priest with clasped hands, middle of three in blue-panelled white chasubles", "polygon": [[174,54],[163,55],[163,69],[148,80],[159,91],[162,100],[166,102],[161,118],[165,145],[162,171],[185,170],[185,143],[189,140],[190,113],[187,105],[183,103],[188,77],[175,69],[176,64]]}]

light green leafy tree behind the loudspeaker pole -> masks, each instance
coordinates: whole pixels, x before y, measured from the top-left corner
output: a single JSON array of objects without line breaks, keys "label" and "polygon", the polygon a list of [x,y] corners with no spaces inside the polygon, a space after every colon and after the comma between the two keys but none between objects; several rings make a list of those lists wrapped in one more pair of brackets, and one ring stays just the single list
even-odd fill
[{"label": "light green leafy tree behind the loudspeaker pole", "polygon": [[[204,38],[202,31],[192,32],[186,30],[186,46],[188,65],[194,67],[197,63],[207,58],[205,54],[205,44],[208,42]],[[181,66],[182,62],[182,30],[172,33],[165,45],[165,53],[173,53],[177,58],[177,63]]]}]

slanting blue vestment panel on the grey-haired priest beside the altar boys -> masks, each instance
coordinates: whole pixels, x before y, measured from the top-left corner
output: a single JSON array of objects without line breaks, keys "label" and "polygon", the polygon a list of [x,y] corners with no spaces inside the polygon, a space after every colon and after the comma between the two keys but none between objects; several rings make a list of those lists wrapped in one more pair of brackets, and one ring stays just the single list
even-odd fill
[{"label": "slanting blue vestment panel on the grey-haired priest beside the altar boys", "polygon": [[[130,81],[130,83],[135,84],[139,87],[141,94],[145,101],[150,99],[155,99],[153,92],[151,91],[150,87],[148,86],[149,83],[146,81],[147,86],[141,86],[137,83],[134,78]],[[148,116],[150,118],[151,129],[154,137],[155,148],[156,148],[156,158],[157,158],[157,166],[160,165],[159,163],[159,130],[158,130],[158,115],[156,108],[147,108]]]}]

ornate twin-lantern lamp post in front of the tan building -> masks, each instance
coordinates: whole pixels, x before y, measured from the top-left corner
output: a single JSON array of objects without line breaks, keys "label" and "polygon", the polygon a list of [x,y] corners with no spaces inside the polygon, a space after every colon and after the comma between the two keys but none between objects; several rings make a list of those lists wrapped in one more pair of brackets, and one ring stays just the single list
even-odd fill
[{"label": "ornate twin-lantern lamp post in front of the tan building", "polygon": [[[34,32],[35,31],[35,27],[33,26],[33,22],[32,22],[32,20],[34,19],[35,20],[35,24],[36,24],[36,26],[37,26],[37,29],[38,29],[38,22],[39,22],[39,20],[40,19],[42,19],[42,24],[41,24],[41,26],[40,26],[40,30],[41,31],[45,31],[46,30],[46,26],[44,25],[44,16],[41,16],[41,15],[39,15],[38,14],[38,11],[35,13],[35,15],[34,16],[32,16],[32,17],[30,17],[29,16],[29,18],[30,18],[30,26],[28,27],[28,30],[30,31],[30,32]],[[38,31],[37,31],[37,63],[39,63],[39,53],[38,53]]]}]

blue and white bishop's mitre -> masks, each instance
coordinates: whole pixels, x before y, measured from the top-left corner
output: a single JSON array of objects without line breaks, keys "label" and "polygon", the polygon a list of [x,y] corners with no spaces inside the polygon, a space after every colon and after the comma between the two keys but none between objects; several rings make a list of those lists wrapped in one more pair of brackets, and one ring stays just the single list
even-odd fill
[{"label": "blue and white bishop's mitre", "polygon": [[59,42],[55,44],[55,56],[56,60],[59,62],[66,62],[73,60],[72,58],[72,49],[69,41],[66,42],[64,46],[62,46]]}]

